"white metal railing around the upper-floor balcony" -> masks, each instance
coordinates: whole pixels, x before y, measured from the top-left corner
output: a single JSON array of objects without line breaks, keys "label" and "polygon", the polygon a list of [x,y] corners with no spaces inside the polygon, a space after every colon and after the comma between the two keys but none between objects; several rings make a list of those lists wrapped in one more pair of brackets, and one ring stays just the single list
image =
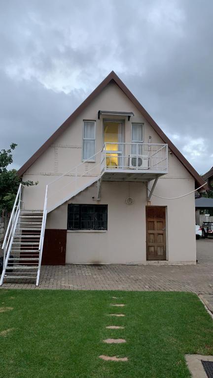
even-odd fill
[{"label": "white metal railing around the upper-floor balcony", "polygon": [[168,145],[158,143],[109,143],[102,151],[102,171],[137,170],[168,172]]}]

